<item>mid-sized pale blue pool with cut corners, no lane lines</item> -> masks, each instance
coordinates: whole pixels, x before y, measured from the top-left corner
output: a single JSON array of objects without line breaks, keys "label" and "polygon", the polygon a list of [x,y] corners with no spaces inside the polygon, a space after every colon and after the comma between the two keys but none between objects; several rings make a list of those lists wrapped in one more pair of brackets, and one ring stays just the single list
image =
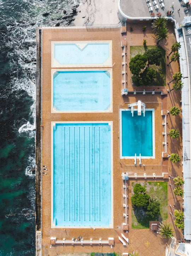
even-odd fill
[{"label": "mid-sized pale blue pool with cut corners, no lane lines", "polygon": [[112,111],[111,70],[54,71],[53,112]]}]

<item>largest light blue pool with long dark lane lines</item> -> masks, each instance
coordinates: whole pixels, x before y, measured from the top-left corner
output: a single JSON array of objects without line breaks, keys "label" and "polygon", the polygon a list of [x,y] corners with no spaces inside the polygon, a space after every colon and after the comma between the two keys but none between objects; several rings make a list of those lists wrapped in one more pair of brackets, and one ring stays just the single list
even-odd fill
[{"label": "largest light blue pool with long dark lane lines", "polygon": [[52,226],[112,226],[112,124],[52,123]]}]

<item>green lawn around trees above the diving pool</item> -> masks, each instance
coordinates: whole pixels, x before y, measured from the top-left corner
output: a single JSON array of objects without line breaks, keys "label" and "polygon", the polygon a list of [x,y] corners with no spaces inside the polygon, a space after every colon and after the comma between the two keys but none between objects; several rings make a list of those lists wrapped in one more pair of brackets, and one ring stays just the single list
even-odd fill
[{"label": "green lawn around trees above the diving pool", "polygon": [[155,80],[149,86],[166,86],[166,51],[160,46],[130,46],[130,59],[137,54],[144,54],[151,48],[159,48],[162,52],[162,61],[160,66],[150,65],[156,71]]}]

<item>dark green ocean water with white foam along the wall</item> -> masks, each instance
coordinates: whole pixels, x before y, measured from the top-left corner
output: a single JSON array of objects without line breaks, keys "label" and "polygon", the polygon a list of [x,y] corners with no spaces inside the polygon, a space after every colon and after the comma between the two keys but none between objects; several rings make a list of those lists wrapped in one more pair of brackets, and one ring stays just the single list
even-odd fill
[{"label": "dark green ocean water with white foam along the wall", "polygon": [[35,255],[36,27],[72,25],[75,5],[0,0],[0,256]]}]

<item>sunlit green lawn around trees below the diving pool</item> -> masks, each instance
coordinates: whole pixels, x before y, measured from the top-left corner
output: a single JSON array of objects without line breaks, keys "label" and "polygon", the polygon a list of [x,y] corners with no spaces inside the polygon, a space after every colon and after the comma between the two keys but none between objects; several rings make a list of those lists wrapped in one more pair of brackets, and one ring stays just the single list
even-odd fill
[{"label": "sunlit green lawn around trees below the diving pool", "polygon": [[[133,187],[136,183],[132,183],[132,194]],[[146,188],[146,193],[151,198],[156,199],[160,202],[160,217],[159,219],[152,220],[165,220],[168,217],[168,198],[167,198],[167,182],[140,182],[142,186]],[[143,210],[134,210],[132,208],[132,228],[149,228],[149,218]]]}]

